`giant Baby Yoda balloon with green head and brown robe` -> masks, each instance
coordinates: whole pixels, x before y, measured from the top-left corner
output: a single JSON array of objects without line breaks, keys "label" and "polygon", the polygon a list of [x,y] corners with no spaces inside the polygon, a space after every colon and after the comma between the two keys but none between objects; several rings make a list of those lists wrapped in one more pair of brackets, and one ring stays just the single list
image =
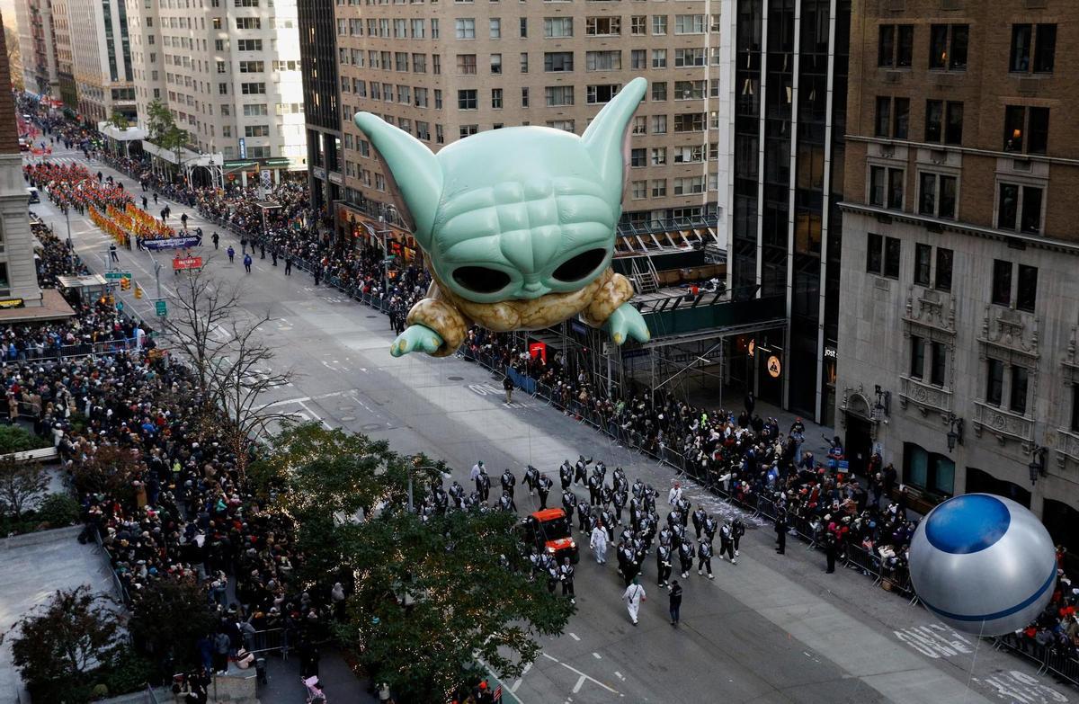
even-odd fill
[{"label": "giant Baby Yoda balloon with green head and brown robe", "polygon": [[369,113],[378,149],[427,254],[434,282],[391,352],[452,354],[473,322],[532,330],[576,314],[616,344],[645,342],[633,289],[611,269],[625,180],[623,145],[647,82],[627,84],[577,137],[549,127],[492,130],[437,154]]}]

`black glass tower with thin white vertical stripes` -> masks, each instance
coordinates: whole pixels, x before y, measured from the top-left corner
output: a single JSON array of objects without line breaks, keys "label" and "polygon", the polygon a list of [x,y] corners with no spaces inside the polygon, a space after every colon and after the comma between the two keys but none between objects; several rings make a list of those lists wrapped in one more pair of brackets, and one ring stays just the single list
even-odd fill
[{"label": "black glass tower with thin white vertical stripes", "polygon": [[738,0],[727,276],[782,299],[786,324],[742,340],[746,385],[831,424],[850,0]]}]

